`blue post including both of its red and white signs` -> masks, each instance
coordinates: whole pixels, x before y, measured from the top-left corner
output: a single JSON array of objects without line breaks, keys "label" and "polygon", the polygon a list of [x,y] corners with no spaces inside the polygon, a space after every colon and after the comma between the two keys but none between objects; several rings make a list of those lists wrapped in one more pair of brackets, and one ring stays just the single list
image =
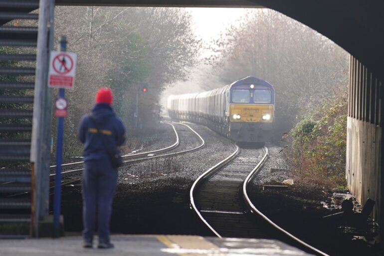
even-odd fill
[{"label": "blue post including both of its red and white signs", "polygon": [[56,142],[56,175],[53,199],[53,237],[59,237],[61,211],[61,163],[63,151],[64,117],[67,116],[68,103],[65,99],[64,88],[73,88],[75,81],[76,54],[66,52],[67,39],[60,37],[60,51],[51,52],[48,74],[48,86],[59,88],[59,96],[55,101],[55,116],[57,117]]}]

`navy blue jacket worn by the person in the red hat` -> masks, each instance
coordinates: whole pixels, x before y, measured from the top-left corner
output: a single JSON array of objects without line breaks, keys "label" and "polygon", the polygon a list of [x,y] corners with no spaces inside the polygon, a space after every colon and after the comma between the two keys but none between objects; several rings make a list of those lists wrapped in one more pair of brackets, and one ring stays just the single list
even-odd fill
[{"label": "navy blue jacket worn by the person in the red hat", "polygon": [[[99,103],[92,108],[91,114],[101,130],[102,136],[109,145],[121,146],[125,141],[125,129],[121,120],[116,117],[110,105]],[[78,138],[84,144],[84,161],[109,160],[100,135],[89,115],[81,118]]]}]

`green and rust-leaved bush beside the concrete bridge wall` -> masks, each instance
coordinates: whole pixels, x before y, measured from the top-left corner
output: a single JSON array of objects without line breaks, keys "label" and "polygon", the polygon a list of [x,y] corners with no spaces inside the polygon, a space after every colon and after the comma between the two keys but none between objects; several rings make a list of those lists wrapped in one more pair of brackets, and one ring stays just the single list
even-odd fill
[{"label": "green and rust-leaved bush beside the concrete bridge wall", "polygon": [[288,159],[300,177],[345,187],[346,113],[347,102],[336,99],[331,108],[324,105],[310,117],[317,122],[306,118],[291,130]]}]

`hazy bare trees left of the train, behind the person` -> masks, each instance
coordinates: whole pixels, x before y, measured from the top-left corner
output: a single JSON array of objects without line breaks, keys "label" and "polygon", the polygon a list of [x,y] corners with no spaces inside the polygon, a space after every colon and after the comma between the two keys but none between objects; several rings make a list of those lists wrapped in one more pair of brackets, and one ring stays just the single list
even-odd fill
[{"label": "hazy bare trees left of the train, behind the person", "polygon": [[[76,129],[81,116],[90,112],[101,87],[113,90],[113,107],[127,128],[126,144],[140,145],[137,138],[160,119],[161,92],[185,79],[187,67],[196,63],[201,47],[189,11],[57,6],[55,12],[55,34],[66,34],[67,50],[78,56],[76,86],[66,92],[69,107],[64,127],[65,157],[81,155]],[[139,93],[140,129],[134,130],[136,94],[143,83],[150,89],[146,94]],[[52,130],[55,134],[55,122]],[[146,143],[145,139],[141,142]]]}]

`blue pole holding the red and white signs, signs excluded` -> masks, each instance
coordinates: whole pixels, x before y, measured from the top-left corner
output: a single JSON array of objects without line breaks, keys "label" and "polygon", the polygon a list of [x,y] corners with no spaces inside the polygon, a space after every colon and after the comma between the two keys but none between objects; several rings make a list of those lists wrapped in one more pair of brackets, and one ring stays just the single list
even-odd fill
[{"label": "blue pole holding the red and white signs, signs excluded", "polygon": [[[65,36],[60,37],[60,51],[66,51],[67,40]],[[59,89],[59,98],[65,97],[64,88]],[[57,142],[56,142],[56,175],[53,198],[53,237],[60,236],[60,211],[61,211],[61,163],[63,155],[63,132],[64,117],[57,119]]]}]

